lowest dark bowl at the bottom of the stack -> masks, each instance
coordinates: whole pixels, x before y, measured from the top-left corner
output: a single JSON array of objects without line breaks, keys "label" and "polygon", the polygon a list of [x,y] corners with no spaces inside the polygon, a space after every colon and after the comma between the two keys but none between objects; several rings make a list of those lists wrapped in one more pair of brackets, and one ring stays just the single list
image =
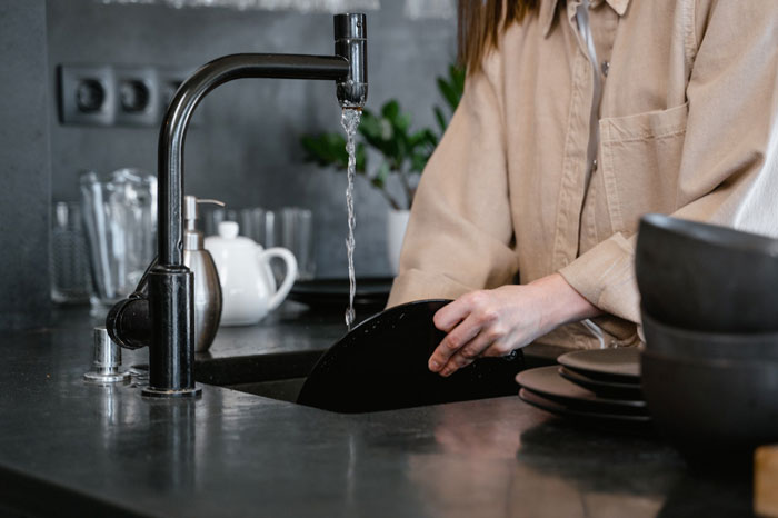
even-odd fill
[{"label": "lowest dark bowl at the bottom of the stack", "polygon": [[778,361],[641,355],[657,429],[696,466],[745,464],[778,441]]}]

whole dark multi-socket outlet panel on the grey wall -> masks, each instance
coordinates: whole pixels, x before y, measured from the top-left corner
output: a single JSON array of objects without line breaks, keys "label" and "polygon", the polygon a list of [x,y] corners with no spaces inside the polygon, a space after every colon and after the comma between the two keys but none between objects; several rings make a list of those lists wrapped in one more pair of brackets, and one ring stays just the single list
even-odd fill
[{"label": "whole dark multi-socket outlet panel on the grey wall", "polygon": [[158,127],[190,72],[143,66],[62,64],[60,121],[78,126]]}]

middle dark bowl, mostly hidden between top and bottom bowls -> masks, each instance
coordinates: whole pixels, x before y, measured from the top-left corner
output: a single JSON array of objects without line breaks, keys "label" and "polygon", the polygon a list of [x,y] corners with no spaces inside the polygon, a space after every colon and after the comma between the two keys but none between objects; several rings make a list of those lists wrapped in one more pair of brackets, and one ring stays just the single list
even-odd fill
[{"label": "middle dark bowl, mostly hidden between top and bottom bowls", "polygon": [[646,350],[667,357],[778,361],[778,332],[709,332],[677,328],[642,311]]}]

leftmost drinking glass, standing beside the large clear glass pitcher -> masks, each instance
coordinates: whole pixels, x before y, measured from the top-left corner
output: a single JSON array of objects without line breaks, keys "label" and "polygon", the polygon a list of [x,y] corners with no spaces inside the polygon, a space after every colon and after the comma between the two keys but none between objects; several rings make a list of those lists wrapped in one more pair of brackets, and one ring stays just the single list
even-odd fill
[{"label": "leftmost drinking glass, standing beside the large clear glass pitcher", "polygon": [[51,300],[56,303],[89,301],[89,255],[77,202],[53,205],[51,227]]}]

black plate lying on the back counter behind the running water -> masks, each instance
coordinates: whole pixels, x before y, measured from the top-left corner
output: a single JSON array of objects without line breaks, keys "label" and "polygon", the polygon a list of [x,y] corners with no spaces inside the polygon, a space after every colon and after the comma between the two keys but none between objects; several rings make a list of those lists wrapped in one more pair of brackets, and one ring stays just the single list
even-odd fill
[{"label": "black plate lying on the back counter behind the running water", "polygon": [[[358,278],[353,298],[355,306],[383,308],[389,299],[392,281],[391,277]],[[288,298],[308,306],[343,307],[349,303],[349,280],[298,280],[292,286]]]}]

